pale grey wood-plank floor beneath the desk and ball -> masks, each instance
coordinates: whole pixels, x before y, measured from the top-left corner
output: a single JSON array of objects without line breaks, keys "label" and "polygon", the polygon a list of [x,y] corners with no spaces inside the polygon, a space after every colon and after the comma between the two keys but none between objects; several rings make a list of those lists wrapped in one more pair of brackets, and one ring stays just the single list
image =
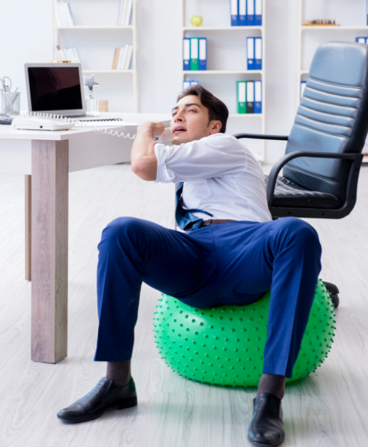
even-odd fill
[{"label": "pale grey wood-plank floor beneath the desk and ball", "polygon": [[[158,292],[144,286],[133,357],[139,406],[75,426],[56,418],[104,376],[93,362],[97,244],[105,225],[131,215],[173,227],[173,185],[136,178],[129,165],[70,174],[69,355],[31,362],[31,283],[24,281],[24,178],[0,175],[0,446],[241,447],[254,389],[222,389],[175,375],[153,343]],[[286,442],[368,446],[368,168],[358,203],[337,221],[310,220],[323,246],[321,277],[340,288],[337,334],[318,371],[288,386]]]}]

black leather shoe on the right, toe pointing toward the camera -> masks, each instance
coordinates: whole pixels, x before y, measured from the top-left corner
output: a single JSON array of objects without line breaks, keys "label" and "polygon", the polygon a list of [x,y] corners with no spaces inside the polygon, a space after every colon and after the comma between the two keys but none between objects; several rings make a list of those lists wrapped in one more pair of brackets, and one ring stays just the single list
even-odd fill
[{"label": "black leather shoe on the right, toe pointing toward the camera", "polygon": [[248,439],[258,447],[276,447],[285,438],[281,399],[269,393],[259,393],[253,399],[254,413]]}]

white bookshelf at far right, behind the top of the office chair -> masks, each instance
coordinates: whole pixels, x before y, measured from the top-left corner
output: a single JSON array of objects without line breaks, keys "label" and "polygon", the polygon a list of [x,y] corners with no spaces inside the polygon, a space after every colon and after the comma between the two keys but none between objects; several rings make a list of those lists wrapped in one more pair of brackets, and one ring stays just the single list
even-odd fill
[{"label": "white bookshelf at far right, behind the top of the office chair", "polygon": [[[327,18],[340,26],[303,26],[305,20]],[[298,0],[297,95],[301,102],[301,81],[306,80],[315,50],[324,42],[355,42],[358,36],[368,37],[367,0]]]}]

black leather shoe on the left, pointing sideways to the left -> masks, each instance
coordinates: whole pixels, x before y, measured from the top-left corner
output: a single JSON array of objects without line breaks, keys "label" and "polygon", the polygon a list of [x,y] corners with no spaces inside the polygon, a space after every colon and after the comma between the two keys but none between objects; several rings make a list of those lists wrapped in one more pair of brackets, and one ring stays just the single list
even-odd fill
[{"label": "black leather shoe on the left, pointing sideways to the left", "polygon": [[91,392],[74,404],[58,412],[63,422],[85,422],[96,419],[109,408],[119,410],[136,406],[136,385],[133,378],[125,387],[118,387],[112,379],[102,377]]}]

